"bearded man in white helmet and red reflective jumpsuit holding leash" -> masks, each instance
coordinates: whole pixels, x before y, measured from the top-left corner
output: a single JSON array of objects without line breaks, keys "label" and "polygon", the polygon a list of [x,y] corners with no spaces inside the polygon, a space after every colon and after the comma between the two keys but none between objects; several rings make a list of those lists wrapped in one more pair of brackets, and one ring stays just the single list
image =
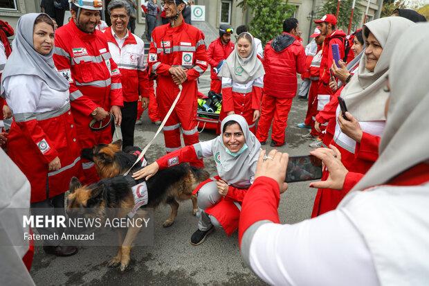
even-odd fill
[{"label": "bearded man in white helmet and red reflective jumpsuit holding leash", "polygon": [[[120,125],[123,105],[118,66],[111,58],[109,46],[95,26],[102,11],[102,1],[75,0],[71,3],[72,20],[55,31],[55,55],[58,71],[69,80],[71,111],[82,148],[111,143],[111,128],[92,131],[91,120],[104,120],[109,111]],[[73,126],[71,126],[73,127]],[[98,181],[92,162],[82,159],[85,184]]]}]

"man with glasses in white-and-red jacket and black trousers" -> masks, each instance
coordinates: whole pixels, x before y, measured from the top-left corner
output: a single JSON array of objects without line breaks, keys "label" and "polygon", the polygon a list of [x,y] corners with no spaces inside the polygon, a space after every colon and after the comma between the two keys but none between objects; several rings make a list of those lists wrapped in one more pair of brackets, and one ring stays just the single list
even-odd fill
[{"label": "man with glasses in white-and-red jacket and black trousers", "polygon": [[145,43],[128,29],[131,6],[125,0],[112,0],[107,6],[111,27],[104,30],[111,57],[118,64],[122,80],[122,148],[134,146],[134,126],[139,98],[143,109],[149,105],[149,76],[146,71]]}]

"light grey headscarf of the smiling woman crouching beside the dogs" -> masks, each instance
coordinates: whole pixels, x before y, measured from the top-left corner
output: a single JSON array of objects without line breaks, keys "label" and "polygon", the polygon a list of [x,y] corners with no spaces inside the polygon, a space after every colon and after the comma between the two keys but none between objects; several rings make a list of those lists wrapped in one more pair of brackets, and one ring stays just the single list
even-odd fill
[{"label": "light grey headscarf of the smiling woman crouching beside the dogs", "polygon": [[223,144],[223,134],[217,136],[212,144],[212,151],[217,161],[217,174],[229,185],[236,188],[248,188],[250,186],[250,177],[255,176],[261,143],[250,132],[246,119],[241,115],[232,114],[226,116],[222,120],[221,131],[223,131],[223,126],[229,121],[235,121],[240,125],[244,138],[246,138],[247,149],[237,157],[233,157],[226,152],[228,148]]}]

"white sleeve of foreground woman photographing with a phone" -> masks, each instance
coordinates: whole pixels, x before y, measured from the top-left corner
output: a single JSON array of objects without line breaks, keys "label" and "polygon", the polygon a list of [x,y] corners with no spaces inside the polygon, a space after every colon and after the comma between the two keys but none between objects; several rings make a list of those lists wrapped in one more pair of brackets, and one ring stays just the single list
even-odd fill
[{"label": "white sleeve of foreground woman photographing with a phone", "polygon": [[261,224],[248,253],[271,285],[378,285],[362,235],[338,210],[298,224]]}]

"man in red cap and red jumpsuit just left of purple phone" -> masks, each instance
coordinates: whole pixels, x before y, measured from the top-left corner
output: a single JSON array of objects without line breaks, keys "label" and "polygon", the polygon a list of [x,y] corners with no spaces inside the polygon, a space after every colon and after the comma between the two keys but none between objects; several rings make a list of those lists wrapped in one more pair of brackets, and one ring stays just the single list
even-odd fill
[{"label": "man in red cap and red jumpsuit just left of purple phone", "polygon": [[[320,75],[319,75],[319,87],[318,87],[318,110],[322,110],[323,107],[329,102],[331,96],[334,95],[334,91],[329,88],[329,80],[331,75],[329,69],[331,68],[334,56],[332,55],[332,45],[338,44],[340,50],[340,59],[344,57],[344,43],[345,33],[343,30],[336,30],[337,19],[332,14],[327,14],[314,21],[320,25],[320,34],[325,36],[322,46],[322,60],[320,61]],[[320,124],[315,122],[315,128],[318,132],[321,132]],[[323,136],[323,142],[327,145],[331,142],[333,134],[325,134]],[[317,140],[310,143],[310,147],[318,148],[322,145],[322,141]]]}]

